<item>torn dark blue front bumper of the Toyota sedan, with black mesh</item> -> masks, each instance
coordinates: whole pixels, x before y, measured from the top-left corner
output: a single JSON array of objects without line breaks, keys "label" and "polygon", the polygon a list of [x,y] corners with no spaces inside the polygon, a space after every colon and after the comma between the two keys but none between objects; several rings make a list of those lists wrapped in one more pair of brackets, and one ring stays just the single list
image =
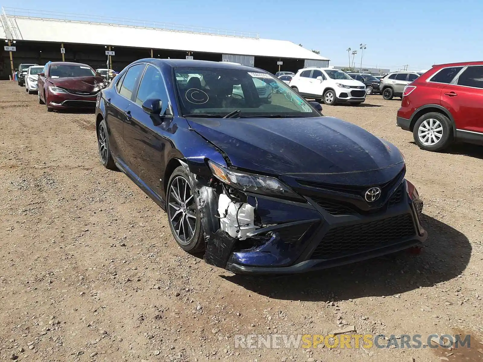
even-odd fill
[{"label": "torn dark blue front bumper of the Toyota sedan, with black mesh", "polygon": [[[337,198],[305,196],[309,203],[301,204],[251,195],[248,202],[256,205],[266,226],[249,237],[263,240],[261,245],[237,250],[233,240],[217,235],[217,254],[208,258],[216,263],[210,264],[240,274],[293,274],[420,245],[427,237],[421,225],[422,201],[409,196],[404,179],[398,182],[377,210],[361,210]],[[213,249],[207,248],[211,256]]]}]

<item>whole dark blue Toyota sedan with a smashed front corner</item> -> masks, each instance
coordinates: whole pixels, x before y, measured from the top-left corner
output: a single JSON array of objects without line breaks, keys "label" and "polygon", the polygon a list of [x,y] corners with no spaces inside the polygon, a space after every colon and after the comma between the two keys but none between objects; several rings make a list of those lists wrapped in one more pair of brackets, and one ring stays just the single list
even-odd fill
[{"label": "whole dark blue Toyota sedan with a smashed front corner", "polygon": [[300,273],[421,244],[423,202],[399,150],[320,111],[264,70],[141,59],[99,92],[100,161],[167,211],[182,249],[234,273]]}]

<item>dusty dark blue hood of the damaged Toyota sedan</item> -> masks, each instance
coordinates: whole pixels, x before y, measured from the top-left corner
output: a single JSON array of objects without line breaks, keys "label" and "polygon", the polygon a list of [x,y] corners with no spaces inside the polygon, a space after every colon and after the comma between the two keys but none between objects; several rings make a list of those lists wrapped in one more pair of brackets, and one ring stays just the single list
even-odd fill
[{"label": "dusty dark blue hood of the damaged Toyota sedan", "polygon": [[368,171],[404,161],[396,146],[333,117],[187,120],[233,166],[266,174]]}]

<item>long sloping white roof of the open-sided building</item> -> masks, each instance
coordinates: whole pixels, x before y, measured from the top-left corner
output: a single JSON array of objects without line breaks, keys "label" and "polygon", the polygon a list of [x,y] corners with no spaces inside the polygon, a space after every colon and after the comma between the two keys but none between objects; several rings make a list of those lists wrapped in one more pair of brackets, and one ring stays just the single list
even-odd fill
[{"label": "long sloping white roof of the open-sided building", "polygon": [[329,60],[293,42],[7,15],[18,39]]}]

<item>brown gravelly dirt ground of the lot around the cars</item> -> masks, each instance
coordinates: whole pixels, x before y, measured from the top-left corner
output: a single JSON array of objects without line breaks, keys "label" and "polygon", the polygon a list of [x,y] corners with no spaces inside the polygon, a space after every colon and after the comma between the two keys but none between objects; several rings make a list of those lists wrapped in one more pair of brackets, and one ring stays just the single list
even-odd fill
[{"label": "brown gravelly dirt ground of the lot around the cars", "polygon": [[[178,248],[165,213],[99,164],[92,113],[47,113],[36,95],[1,82],[0,359],[483,361],[483,147],[421,151],[395,125],[399,104],[370,96],[324,114],[400,148],[425,202],[421,253],[244,277]],[[471,348],[235,348],[235,334],[346,325],[423,343],[468,333]]]}]

